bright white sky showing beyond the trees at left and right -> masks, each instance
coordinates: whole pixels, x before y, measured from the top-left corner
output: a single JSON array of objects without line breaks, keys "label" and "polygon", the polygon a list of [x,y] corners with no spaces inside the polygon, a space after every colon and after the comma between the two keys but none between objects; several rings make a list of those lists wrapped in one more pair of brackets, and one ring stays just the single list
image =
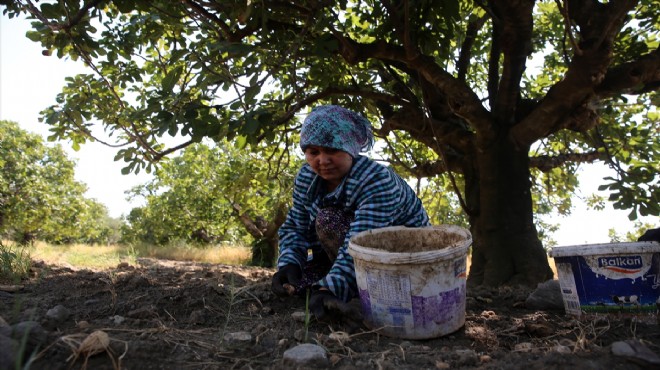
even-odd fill
[{"label": "bright white sky showing beyond the trees at left and right", "polygon": [[[38,43],[30,41],[25,33],[30,22],[8,19],[0,15],[0,120],[17,122],[24,130],[48,136],[48,126],[39,123],[39,112],[53,104],[65,85],[65,77],[90,73],[80,62],[43,56]],[[110,216],[128,214],[142,203],[129,202],[125,191],[145,183],[150,176],[122,175],[123,162],[115,162],[115,149],[100,143],[88,143],[76,152],[68,142],[59,142],[69,158],[76,161],[76,180],[88,187],[87,196],[105,204]],[[602,165],[583,166],[580,170],[582,197],[597,193],[598,185],[612,173]],[[600,194],[604,195],[604,194]],[[581,201],[575,201],[570,217],[553,217],[549,221],[560,224],[553,234],[559,246],[609,242],[608,230],[618,233],[633,230],[628,211],[614,210],[607,205],[603,211],[589,210]],[[645,217],[641,221],[660,226],[657,217]]]}]

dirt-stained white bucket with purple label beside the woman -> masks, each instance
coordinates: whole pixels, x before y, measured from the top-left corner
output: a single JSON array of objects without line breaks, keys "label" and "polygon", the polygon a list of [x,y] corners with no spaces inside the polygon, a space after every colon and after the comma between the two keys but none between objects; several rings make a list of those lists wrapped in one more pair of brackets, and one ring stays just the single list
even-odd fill
[{"label": "dirt-stained white bucket with purple label beside the woman", "polygon": [[465,324],[472,235],[454,225],[386,227],[351,238],[365,324],[397,338],[428,339]]}]

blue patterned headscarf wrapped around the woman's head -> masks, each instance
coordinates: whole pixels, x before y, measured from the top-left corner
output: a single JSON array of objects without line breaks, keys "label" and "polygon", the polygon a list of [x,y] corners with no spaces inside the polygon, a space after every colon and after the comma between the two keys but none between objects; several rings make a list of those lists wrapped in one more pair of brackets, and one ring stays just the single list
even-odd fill
[{"label": "blue patterned headscarf wrapped around the woman's head", "polygon": [[305,118],[300,148],[310,145],[343,150],[355,158],[374,144],[371,123],[361,114],[337,105],[316,107]]}]

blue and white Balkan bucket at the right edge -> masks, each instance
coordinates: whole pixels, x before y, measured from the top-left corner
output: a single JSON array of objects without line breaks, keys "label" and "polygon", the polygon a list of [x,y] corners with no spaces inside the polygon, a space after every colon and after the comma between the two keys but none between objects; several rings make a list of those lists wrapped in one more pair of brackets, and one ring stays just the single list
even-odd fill
[{"label": "blue and white Balkan bucket at the right edge", "polygon": [[655,314],[660,308],[660,243],[554,247],[566,313]]}]

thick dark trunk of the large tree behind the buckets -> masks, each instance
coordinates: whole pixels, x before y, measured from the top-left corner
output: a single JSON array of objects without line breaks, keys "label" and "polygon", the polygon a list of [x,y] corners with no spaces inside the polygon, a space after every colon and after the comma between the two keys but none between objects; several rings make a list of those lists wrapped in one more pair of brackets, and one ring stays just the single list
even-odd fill
[{"label": "thick dark trunk of the large tree behind the buckets", "polygon": [[516,148],[507,135],[500,135],[480,145],[476,168],[473,176],[466,176],[474,241],[468,282],[535,286],[551,279],[534,225],[529,148]]}]

